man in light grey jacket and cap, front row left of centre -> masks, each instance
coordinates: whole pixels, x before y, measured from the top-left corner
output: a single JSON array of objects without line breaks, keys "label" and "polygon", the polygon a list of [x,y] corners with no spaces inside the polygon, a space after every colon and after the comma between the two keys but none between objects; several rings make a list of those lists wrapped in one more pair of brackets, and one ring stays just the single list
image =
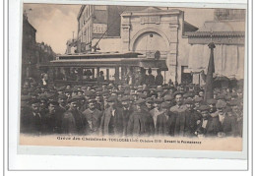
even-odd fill
[{"label": "man in light grey jacket and cap, front row left of centre", "polygon": [[98,135],[102,112],[96,109],[96,100],[94,99],[89,100],[88,106],[89,108],[83,112],[84,123],[87,121],[89,124],[91,135]]}]

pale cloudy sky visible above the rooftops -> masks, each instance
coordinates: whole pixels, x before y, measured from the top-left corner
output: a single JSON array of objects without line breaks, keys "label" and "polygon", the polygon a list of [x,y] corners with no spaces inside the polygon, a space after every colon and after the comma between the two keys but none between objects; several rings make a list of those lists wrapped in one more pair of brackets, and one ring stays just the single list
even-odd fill
[{"label": "pale cloudy sky visible above the rooftops", "polygon": [[[36,29],[36,42],[50,45],[55,53],[64,54],[66,42],[77,36],[77,16],[81,5],[56,4],[24,4],[24,10],[34,29]],[[30,10],[32,9],[32,10]],[[184,20],[198,28],[205,21],[214,20],[213,9],[182,9]]]}]

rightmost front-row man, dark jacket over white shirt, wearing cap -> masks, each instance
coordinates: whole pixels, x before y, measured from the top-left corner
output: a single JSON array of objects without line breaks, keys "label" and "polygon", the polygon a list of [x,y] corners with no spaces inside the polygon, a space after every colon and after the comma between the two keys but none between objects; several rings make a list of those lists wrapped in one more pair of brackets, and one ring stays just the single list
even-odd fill
[{"label": "rightmost front-row man, dark jacket over white shirt, wearing cap", "polygon": [[219,114],[218,119],[220,128],[220,133],[218,136],[234,136],[236,130],[235,119],[232,116],[228,116],[226,114],[226,103],[224,100],[219,100],[216,103],[216,107]]}]

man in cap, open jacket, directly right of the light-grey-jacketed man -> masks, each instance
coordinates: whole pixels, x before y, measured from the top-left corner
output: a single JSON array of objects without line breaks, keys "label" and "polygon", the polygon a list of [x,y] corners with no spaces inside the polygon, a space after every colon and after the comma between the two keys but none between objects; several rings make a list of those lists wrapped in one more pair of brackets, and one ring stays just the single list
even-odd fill
[{"label": "man in cap, open jacket, directly right of the light-grey-jacketed man", "polygon": [[109,135],[117,135],[122,136],[123,129],[122,129],[122,117],[120,114],[117,113],[117,97],[111,95],[107,99],[107,107],[103,111],[103,115],[100,121],[99,127],[99,135],[100,136],[109,136]]}]

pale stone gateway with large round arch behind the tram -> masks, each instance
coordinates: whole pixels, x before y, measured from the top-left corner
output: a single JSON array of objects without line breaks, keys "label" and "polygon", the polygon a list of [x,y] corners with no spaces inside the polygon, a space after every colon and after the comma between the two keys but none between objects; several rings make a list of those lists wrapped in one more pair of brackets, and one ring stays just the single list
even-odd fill
[{"label": "pale stone gateway with large round arch behind the tram", "polygon": [[147,59],[160,51],[160,59],[165,60],[168,67],[165,83],[169,80],[180,83],[189,47],[184,33],[197,30],[184,21],[184,12],[149,7],[142,11],[126,11],[121,17],[122,52],[140,52]]}]

